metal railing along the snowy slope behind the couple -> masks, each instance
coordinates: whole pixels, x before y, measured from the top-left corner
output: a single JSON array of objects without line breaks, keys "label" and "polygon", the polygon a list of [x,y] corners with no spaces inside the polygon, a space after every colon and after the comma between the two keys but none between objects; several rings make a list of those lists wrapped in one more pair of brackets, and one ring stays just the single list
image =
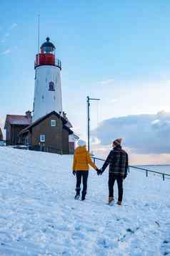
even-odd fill
[{"label": "metal railing along the snowy slope behind the couple", "polygon": [[[97,158],[97,157],[94,157],[94,156],[91,156],[91,158],[94,160],[94,163],[96,162],[96,160],[105,161],[102,158]],[[153,171],[153,170],[149,170],[149,169],[141,168],[141,167],[137,167],[137,166],[129,166],[128,167],[128,172],[130,172],[130,168],[135,169],[136,171],[141,171],[141,172],[145,171],[146,177],[148,177],[148,174],[151,173],[151,174],[154,174],[154,175],[156,175],[156,174],[161,175],[163,181],[165,180],[165,178],[170,179],[170,174],[165,174],[165,173],[162,173],[162,172],[159,172],[159,171]]]}]

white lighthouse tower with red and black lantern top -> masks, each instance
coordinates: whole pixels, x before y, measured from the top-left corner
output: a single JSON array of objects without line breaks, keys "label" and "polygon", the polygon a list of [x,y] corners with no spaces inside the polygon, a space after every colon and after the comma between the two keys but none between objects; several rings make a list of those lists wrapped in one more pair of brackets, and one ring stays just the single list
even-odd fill
[{"label": "white lighthouse tower with red and black lantern top", "polygon": [[41,53],[36,54],[33,120],[55,110],[62,113],[61,61],[56,59],[56,47],[46,38]]}]

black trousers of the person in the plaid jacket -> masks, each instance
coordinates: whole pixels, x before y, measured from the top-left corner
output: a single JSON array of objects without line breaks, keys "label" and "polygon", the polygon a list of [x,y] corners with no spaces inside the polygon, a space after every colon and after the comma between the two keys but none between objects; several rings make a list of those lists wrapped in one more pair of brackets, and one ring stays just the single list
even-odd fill
[{"label": "black trousers of the person in the plaid jacket", "polygon": [[114,196],[114,182],[117,181],[118,186],[118,201],[121,202],[123,198],[123,181],[124,178],[120,175],[109,174],[109,196]]}]

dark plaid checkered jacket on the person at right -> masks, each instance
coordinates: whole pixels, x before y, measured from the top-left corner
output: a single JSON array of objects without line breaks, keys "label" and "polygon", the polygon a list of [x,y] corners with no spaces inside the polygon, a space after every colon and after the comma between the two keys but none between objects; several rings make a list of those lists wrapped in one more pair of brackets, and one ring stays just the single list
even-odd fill
[{"label": "dark plaid checkered jacket on the person at right", "polygon": [[121,148],[121,146],[116,146],[116,148],[110,151],[101,170],[104,171],[108,165],[109,174],[121,176],[127,175],[128,154]]}]

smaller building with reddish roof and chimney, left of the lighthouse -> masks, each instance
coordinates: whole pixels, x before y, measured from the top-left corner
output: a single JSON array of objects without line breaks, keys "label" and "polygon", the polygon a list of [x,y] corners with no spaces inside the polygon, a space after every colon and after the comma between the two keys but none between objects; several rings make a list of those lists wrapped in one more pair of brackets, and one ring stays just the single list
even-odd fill
[{"label": "smaller building with reddish roof and chimney, left of the lighthouse", "polygon": [[27,111],[26,115],[6,115],[4,129],[6,130],[6,146],[17,145],[19,132],[31,124],[31,112]]}]

